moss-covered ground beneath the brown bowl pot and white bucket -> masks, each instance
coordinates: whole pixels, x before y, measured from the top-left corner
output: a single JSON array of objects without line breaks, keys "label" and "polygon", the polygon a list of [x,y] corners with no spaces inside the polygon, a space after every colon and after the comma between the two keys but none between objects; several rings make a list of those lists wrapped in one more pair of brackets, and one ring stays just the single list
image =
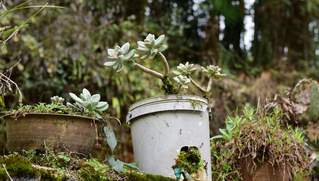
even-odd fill
[{"label": "moss-covered ground beneath the brown bowl pot and white bucket", "polygon": [[[10,177],[11,178],[10,178]],[[143,174],[136,170],[117,173],[97,159],[78,159],[51,151],[38,154],[31,150],[12,153],[0,159],[0,181],[5,180],[175,180],[161,175]]]}]

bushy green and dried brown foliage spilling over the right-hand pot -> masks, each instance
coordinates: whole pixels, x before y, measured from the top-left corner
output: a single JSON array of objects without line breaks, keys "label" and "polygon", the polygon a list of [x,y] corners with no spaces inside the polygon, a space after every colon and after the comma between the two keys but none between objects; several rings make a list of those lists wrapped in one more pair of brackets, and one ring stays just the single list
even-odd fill
[{"label": "bushy green and dried brown foliage spilling over the right-hand pot", "polygon": [[221,135],[211,138],[213,177],[240,179],[239,168],[248,156],[253,159],[251,171],[263,162],[289,164],[292,169],[285,171],[292,177],[299,169],[309,169],[304,131],[282,127],[279,109],[268,113],[245,106],[243,115],[239,114],[237,111],[234,117],[228,117],[226,129],[219,129]]}]

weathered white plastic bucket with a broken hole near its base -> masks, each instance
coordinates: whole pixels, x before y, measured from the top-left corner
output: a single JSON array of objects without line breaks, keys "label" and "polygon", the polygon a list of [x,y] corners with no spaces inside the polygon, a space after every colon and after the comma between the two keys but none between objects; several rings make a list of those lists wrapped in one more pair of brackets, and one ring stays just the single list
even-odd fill
[{"label": "weathered white plastic bucket with a broken hole near its base", "polygon": [[199,149],[211,180],[207,101],[198,96],[170,95],[145,99],[129,108],[135,162],[145,173],[176,178],[172,166],[185,146]]}]

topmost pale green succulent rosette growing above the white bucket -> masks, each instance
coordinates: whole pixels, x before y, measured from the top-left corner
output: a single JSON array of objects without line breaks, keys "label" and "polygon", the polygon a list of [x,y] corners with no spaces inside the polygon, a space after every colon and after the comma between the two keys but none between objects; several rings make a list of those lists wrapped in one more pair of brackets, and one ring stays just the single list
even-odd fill
[{"label": "topmost pale green succulent rosette growing above the white bucket", "polygon": [[161,45],[163,43],[165,35],[159,36],[155,40],[155,36],[152,34],[148,34],[144,41],[138,41],[137,51],[139,53],[145,54],[141,57],[142,60],[149,57],[149,59],[153,59],[157,52],[163,52],[167,49],[166,45]]}]

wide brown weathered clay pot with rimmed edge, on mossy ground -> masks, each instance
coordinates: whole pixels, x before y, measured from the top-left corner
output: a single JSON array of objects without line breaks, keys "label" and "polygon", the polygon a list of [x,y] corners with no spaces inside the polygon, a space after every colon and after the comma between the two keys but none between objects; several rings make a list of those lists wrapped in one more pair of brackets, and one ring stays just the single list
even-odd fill
[{"label": "wide brown weathered clay pot with rimmed edge, on mossy ground", "polygon": [[[96,139],[96,128],[92,118],[32,113],[18,118],[4,117],[7,122],[9,151],[38,149],[45,146],[55,152],[77,152],[84,157],[92,153]],[[99,120],[95,120],[99,124]],[[75,153],[76,154],[76,153]]]}]

